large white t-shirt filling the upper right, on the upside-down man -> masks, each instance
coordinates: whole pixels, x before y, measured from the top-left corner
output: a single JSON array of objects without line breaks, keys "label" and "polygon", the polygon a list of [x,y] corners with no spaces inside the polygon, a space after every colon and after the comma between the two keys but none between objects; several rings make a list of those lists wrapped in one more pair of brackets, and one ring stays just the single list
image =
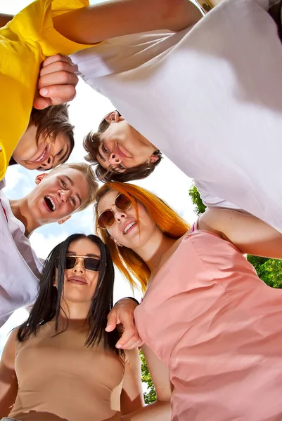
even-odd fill
[{"label": "large white t-shirt filling the upper right, on the upside-down man", "polygon": [[192,28],[122,36],[72,61],[207,206],[282,232],[282,48],[268,9],[226,0]]}]

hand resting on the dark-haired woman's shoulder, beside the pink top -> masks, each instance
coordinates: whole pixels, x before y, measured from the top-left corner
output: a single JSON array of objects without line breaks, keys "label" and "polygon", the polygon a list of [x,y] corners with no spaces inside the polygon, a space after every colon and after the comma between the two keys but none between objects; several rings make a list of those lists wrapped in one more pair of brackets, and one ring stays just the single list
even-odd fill
[{"label": "hand resting on the dark-haired woman's shoulder, beside the pink top", "polygon": [[117,348],[134,349],[141,347],[143,343],[141,338],[139,338],[134,322],[134,310],[136,307],[136,302],[130,300],[130,298],[122,298],[122,300],[117,301],[108,314],[108,324],[105,328],[107,332],[114,330],[119,323],[124,328],[122,337],[115,345]]}]

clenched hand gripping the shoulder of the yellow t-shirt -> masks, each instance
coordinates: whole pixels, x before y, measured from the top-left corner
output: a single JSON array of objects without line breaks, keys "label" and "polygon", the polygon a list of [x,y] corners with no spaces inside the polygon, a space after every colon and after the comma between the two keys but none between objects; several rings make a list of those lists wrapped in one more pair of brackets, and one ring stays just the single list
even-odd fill
[{"label": "clenched hand gripping the shoulder of the yellow t-shirt", "polygon": [[75,98],[78,77],[70,58],[65,55],[52,55],[42,63],[37,84],[37,94],[33,106],[44,109]]}]

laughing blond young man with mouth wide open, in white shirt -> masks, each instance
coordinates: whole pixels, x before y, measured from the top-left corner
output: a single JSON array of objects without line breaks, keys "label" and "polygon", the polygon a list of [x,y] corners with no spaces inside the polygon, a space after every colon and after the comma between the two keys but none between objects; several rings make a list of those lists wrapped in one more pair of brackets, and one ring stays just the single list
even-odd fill
[{"label": "laughing blond young man with mouth wide open, in white shirt", "polygon": [[32,232],[84,210],[98,188],[86,163],[65,163],[37,175],[35,183],[25,197],[9,200],[0,182],[0,326],[36,298],[42,263],[30,244]]}]

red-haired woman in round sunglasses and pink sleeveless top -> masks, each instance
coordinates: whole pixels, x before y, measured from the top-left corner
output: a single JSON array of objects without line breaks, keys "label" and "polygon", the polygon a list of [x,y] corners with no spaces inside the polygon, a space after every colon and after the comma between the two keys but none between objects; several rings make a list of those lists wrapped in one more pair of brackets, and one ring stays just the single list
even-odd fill
[{"label": "red-haired woman in round sunglasses and pink sleeveless top", "polygon": [[154,194],[108,182],[96,229],[115,265],[146,290],[139,335],[169,368],[173,421],[282,418],[282,291],[244,254],[282,257],[282,234],[235,210],[188,224]]}]

